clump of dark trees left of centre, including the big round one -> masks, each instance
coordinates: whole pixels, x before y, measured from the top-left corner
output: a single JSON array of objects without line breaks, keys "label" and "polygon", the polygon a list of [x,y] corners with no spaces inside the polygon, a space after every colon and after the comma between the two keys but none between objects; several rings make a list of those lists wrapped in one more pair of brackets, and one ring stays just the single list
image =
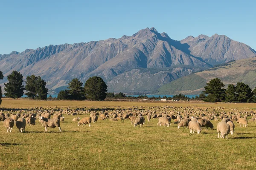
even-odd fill
[{"label": "clump of dark trees left of centre, including the big round one", "polygon": [[102,101],[107,96],[108,86],[100,77],[90,77],[82,87],[83,83],[79,79],[72,79],[68,83],[68,90],[62,90],[58,93],[57,99],[72,100],[96,100]]}]

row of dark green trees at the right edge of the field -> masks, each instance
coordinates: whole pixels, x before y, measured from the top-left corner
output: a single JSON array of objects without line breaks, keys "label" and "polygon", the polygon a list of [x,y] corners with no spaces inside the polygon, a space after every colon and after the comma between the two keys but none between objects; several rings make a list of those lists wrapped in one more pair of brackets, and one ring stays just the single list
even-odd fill
[{"label": "row of dark green trees at the right edge of the field", "polygon": [[204,94],[208,94],[205,102],[256,102],[256,88],[252,91],[249,85],[237,82],[235,85],[228,85],[224,89],[224,83],[220,79],[211,79],[204,87]]}]

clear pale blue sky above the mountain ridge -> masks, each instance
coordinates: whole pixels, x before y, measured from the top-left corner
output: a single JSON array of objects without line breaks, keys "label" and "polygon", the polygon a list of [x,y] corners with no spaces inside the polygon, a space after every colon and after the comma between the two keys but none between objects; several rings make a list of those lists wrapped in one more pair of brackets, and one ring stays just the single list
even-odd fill
[{"label": "clear pale blue sky above the mountain ridge", "polygon": [[174,40],[224,34],[256,50],[256,1],[0,0],[0,54],[155,27]]}]

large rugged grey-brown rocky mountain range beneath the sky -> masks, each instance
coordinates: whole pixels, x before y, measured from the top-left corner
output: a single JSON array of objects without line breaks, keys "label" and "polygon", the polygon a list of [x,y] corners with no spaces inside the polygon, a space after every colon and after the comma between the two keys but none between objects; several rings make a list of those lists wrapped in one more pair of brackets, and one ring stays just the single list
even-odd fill
[{"label": "large rugged grey-brown rocky mountain range beneath the sky", "polygon": [[0,55],[0,70],[40,75],[54,91],[73,78],[100,76],[111,91],[153,91],[161,85],[212,65],[255,56],[249,46],[226,36],[187,37],[176,41],[155,28],[132,36],[88,43],[49,45]]}]

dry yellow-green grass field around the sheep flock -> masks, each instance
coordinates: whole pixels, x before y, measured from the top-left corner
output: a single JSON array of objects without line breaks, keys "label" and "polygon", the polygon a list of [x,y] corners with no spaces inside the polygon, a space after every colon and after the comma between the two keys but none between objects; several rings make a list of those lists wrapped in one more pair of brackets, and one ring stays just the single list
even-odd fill
[{"label": "dry yellow-green grass field around the sheep flock", "polygon": [[[114,106],[195,105],[195,107],[255,108],[250,104],[206,103],[143,103],[143,102],[75,102],[3,100],[5,108],[34,106],[114,107]],[[85,115],[79,115],[84,117]],[[86,115],[88,116],[88,115]],[[48,129],[36,121],[26,127],[26,133],[6,133],[0,122],[0,170],[255,170],[256,125],[246,128],[235,124],[229,139],[218,139],[217,122],[213,130],[197,135],[188,129],[157,127],[157,119],[134,127],[129,120],[92,123],[78,127],[73,116],[65,115],[62,132]],[[2,124],[2,125],[1,125]]]}]

